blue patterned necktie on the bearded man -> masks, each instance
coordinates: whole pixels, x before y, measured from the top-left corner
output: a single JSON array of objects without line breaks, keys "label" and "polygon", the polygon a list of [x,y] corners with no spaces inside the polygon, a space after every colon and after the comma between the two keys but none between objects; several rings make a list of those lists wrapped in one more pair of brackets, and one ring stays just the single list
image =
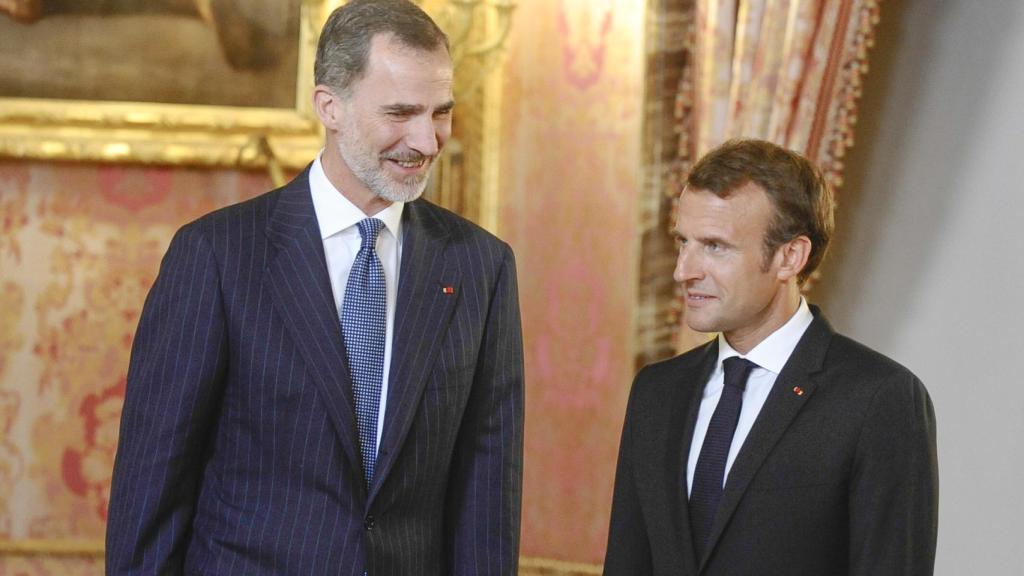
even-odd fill
[{"label": "blue patterned necktie on the bearded man", "polygon": [[359,430],[362,479],[370,488],[377,463],[377,414],[384,378],[384,336],[387,292],[384,269],[377,257],[377,235],[384,222],[366,218],[357,224],[362,243],[352,262],[341,304],[341,333],[355,395],[355,423]]}]

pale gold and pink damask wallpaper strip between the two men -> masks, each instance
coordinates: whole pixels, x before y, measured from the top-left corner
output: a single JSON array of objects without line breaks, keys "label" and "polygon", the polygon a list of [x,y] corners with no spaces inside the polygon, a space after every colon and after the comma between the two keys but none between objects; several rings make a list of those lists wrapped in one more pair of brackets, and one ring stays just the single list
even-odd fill
[{"label": "pale gold and pink damask wallpaper strip between the two men", "polygon": [[644,6],[524,1],[509,40],[499,232],[525,340],[524,557],[604,558],[633,377]]}]

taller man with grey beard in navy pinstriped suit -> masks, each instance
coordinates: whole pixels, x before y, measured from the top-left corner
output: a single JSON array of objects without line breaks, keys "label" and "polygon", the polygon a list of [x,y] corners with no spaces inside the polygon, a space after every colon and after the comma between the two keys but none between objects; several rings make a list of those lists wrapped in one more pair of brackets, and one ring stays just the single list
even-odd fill
[{"label": "taller man with grey beard in navy pinstriped suit", "polygon": [[109,574],[516,572],[523,373],[508,245],[417,199],[447,40],[408,0],[322,34],[327,143],[182,228],[132,349]]}]

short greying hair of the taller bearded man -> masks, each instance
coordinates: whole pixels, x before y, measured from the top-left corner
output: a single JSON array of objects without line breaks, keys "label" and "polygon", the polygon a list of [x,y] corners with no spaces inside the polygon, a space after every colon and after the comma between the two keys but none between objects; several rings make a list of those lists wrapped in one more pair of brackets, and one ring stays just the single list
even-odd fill
[{"label": "short greying hair of the taller bearded man", "polygon": [[316,45],[313,79],[342,93],[362,77],[370,45],[378,34],[393,34],[420,50],[449,48],[447,36],[410,0],[352,0],[331,12]]}]

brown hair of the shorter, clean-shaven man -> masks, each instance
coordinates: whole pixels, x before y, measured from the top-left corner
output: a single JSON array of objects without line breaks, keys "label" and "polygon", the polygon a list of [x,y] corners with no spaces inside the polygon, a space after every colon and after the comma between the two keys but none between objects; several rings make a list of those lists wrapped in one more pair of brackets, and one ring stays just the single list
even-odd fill
[{"label": "brown hair of the shorter, clean-shaven man", "polygon": [[799,237],[811,241],[803,284],[817,270],[831,239],[835,201],[821,171],[807,158],[766,140],[733,139],[709,152],[686,177],[687,188],[725,198],[748,182],[768,196],[775,214],[764,238],[765,265],[775,250]]}]

